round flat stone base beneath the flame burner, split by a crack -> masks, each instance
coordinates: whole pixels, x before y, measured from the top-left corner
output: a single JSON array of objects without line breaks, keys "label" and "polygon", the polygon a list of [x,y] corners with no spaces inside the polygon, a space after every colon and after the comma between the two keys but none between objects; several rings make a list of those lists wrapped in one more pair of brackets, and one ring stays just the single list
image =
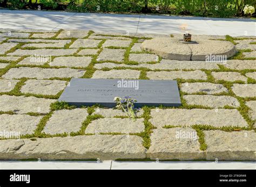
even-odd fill
[{"label": "round flat stone base beneath the flame burner, split by a crack", "polygon": [[[180,38],[153,38],[142,43],[144,51],[169,60],[214,61],[233,56],[235,46],[229,41],[196,38],[196,44],[183,44]],[[221,55],[221,56],[220,56]]]}]

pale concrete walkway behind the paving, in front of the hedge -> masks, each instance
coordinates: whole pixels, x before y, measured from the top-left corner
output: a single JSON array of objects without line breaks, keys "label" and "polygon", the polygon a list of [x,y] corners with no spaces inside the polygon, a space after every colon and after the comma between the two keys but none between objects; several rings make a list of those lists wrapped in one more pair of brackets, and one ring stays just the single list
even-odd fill
[{"label": "pale concrete walkway behind the paving, in front of the hedge", "polygon": [[0,10],[0,28],[93,30],[122,33],[256,35],[256,20]]}]

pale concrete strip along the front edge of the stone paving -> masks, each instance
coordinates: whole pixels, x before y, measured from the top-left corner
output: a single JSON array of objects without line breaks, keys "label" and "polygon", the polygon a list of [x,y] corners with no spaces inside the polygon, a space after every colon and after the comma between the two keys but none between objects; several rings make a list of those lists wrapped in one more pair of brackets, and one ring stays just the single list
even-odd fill
[{"label": "pale concrete strip along the front edge of the stone paving", "polygon": [[255,169],[255,162],[1,161],[0,169]]}]

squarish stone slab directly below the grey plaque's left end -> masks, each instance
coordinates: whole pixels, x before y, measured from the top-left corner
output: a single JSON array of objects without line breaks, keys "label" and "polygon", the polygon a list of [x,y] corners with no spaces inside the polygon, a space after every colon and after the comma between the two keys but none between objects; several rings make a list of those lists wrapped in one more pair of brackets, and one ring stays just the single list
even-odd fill
[{"label": "squarish stone slab directly below the grey plaque's left end", "polygon": [[57,110],[53,112],[43,132],[46,134],[78,132],[87,116],[85,109]]}]

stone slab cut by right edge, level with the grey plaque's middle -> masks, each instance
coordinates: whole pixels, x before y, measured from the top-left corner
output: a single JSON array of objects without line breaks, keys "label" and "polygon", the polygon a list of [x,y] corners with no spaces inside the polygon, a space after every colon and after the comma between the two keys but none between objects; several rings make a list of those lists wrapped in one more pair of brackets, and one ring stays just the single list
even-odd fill
[{"label": "stone slab cut by right edge, level with the grey plaque's middle", "polygon": [[256,84],[233,84],[232,91],[240,97],[255,97]]}]

